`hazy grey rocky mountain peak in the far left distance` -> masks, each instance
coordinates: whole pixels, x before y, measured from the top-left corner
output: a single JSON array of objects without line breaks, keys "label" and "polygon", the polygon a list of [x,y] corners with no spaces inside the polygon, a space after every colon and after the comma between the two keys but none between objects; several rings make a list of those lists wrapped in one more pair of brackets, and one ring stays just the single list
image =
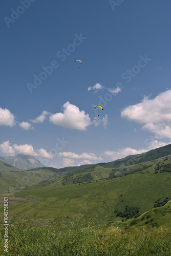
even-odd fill
[{"label": "hazy grey rocky mountain peak in the far left distance", "polygon": [[0,157],[0,160],[23,170],[45,167],[35,157],[23,154],[13,157]]}]

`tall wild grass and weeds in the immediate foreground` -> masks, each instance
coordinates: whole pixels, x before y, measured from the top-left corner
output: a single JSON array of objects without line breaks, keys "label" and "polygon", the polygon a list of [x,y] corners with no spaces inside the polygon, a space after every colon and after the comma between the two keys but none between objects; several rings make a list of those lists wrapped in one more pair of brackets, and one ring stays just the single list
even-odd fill
[{"label": "tall wild grass and weeds in the immediate foreground", "polygon": [[171,254],[171,230],[164,227],[135,229],[96,226],[93,220],[35,225],[22,222],[9,225],[8,253],[4,252],[1,225],[1,255],[165,255]]}]

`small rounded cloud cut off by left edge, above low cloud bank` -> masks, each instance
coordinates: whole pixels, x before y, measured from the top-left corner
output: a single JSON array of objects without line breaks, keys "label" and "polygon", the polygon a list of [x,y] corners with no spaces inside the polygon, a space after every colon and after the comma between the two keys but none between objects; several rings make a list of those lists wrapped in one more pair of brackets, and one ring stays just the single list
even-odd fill
[{"label": "small rounded cloud cut off by left edge, above low cloud bank", "polygon": [[15,125],[15,117],[8,109],[0,108],[0,126],[14,126]]}]

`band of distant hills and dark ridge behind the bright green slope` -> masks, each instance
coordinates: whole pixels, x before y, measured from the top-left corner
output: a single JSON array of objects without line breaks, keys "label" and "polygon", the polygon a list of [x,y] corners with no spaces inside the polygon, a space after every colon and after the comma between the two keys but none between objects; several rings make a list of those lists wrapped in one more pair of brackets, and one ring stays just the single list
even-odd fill
[{"label": "band of distant hills and dark ridge behind the bright green slope", "polygon": [[[119,159],[111,163],[117,163],[117,171],[114,173],[114,175],[119,176],[119,175],[124,175],[126,172],[136,170],[137,168],[144,169],[149,165],[156,164],[157,160],[152,160],[149,162],[142,162],[145,161],[146,159],[152,158],[154,159],[155,157],[158,157],[159,155],[165,155],[166,153],[169,153],[170,151],[170,145],[157,148],[154,151],[149,151],[147,153],[143,153],[137,156],[128,156],[124,159]],[[153,157],[151,156],[153,155]],[[170,156],[169,156],[170,157]],[[135,158],[135,160],[131,160],[132,158]],[[139,159],[139,160],[138,160]],[[124,160],[124,163],[122,162]],[[125,162],[128,161],[128,162]],[[138,161],[138,163],[137,163]],[[112,166],[111,163],[107,163],[107,165]],[[119,165],[118,165],[119,163]],[[129,165],[130,164],[130,165]],[[53,183],[53,186],[58,186],[63,184],[73,184],[73,183],[79,183],[79,182],[86,182],[86,181],[92,181],[92,180],[98,180],[98,179],[104,179],[108,178],[110,173],[112,173],[112,168],[106,168],[104,167],[106,164],[103,166],[100,165],[81,165],[81,166],[74,166],[74,167],[65,167],[65,168],[52,168],[52,167],[42,167],[42,168],[34,168],[27,170],[23,176],[20,169],[17,169],[13,166],[10,166],[7,163],[3,163],[0,161],[0,193],[12,193],[14,189],[19,189],[23,188],[25,186],[30,186],[30,185],[37,185],[40,182],[44,182],[45,180],[49,180],[48,182],[44,182],[44,184],[40,184],[39,186],[45,186],[49,184],[49,182]],[[17,174],[17,172],[12,173],[13,171],[19,170],[20,172]],[[115,168],[113,167],[113,170]],[[2,172],[2,173],[1,173]],[[8,172],[7,176],[3,172]],[[33,180],[32,176],[33,173],[35,173],[35,178]],[[46,173],[46,174],[45,174]],[[88,173],[89,174],[88,177]],[[53,175],[52,175],[53,174]],[[64,181],[63,178],[58,178],[59,176],[65,176],[67,174],[72,174],[71,177],[67,178]],[[87,176],[87,177],[86,177]],[[113,175],[112,175],[113,176]],[[53,180],[52,180],[53,178]],[[54,179],[56,178],[56,179]],[[90,179],[89,179],[90,178]]]}]

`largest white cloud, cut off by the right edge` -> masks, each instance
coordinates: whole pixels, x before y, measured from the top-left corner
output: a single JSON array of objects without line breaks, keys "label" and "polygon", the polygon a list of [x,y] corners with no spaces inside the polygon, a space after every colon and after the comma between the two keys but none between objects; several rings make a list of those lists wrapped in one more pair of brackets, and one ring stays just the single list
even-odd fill
[{"label": "largest white cloud, cut off by the right edge", "polygon": [[156,138],[171,138],[171,90],[160,93],[154,99],[144,97],[142,102],[126,107],[121,117],[144,124]]}]

